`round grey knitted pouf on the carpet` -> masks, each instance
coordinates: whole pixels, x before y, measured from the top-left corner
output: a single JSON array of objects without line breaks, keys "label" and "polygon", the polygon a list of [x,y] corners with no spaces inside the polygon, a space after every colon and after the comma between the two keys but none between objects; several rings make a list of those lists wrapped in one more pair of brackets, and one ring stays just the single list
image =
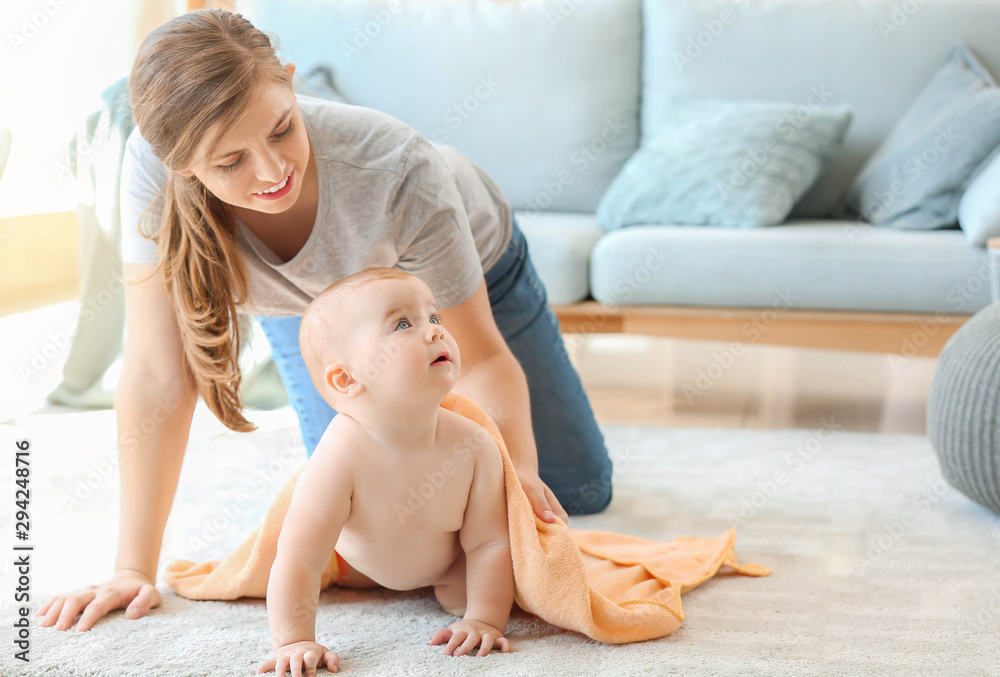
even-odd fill
[{"label": "round grey knitted pouf on the carpet", "polygon": [[979,311],[938,357],[927,400],[927,436],[941,473],[1000,514],[1000,303]]}]

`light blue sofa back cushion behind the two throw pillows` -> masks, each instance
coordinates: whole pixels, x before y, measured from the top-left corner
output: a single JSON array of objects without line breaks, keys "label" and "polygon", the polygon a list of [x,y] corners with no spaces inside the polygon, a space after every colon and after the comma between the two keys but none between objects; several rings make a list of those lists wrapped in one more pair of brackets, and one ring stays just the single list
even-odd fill
[{"label": "light blue sofa back cushion behind the two throw pillows", "polygon": [[844,103],[854,121],[792,210],[822,217],[956,42],[1000,73],[996,0],[643,0],[642,132],[677,97]]}]

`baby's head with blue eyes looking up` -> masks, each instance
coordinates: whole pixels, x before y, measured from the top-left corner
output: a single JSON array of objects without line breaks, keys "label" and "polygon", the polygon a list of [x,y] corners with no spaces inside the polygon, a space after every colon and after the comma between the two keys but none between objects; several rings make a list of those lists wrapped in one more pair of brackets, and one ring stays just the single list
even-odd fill
[{"label": "baby's head with blue eyes looking up", "polygon": [[299,344],[316,390],[337,411],[364,401],[437,406],[461,371],[430,288],[394,268],[366,268],[327,287],[302,316]]}]

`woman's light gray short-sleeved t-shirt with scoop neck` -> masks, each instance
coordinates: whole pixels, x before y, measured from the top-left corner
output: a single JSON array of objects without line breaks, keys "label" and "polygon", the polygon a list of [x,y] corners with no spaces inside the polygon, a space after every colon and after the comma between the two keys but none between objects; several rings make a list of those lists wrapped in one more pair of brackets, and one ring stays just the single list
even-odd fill
[{"label": "woman's light gray short-sleeved t-shirt with scoop neck", "polygon": [[[253,315],[297,316],[337,280],[369,266],[427,283],[439,308],[472,296],[510,244],[511,208],[496,182],[451,146],[436,144],[371,108],[298,95],[319,179],[316,223],[301,251],[282,262],[236,219]],[[156,263],[140,233],[167,169],[136,128],[122,164],[122,260]],[[143,232],[159,228],[162,198]]]}]

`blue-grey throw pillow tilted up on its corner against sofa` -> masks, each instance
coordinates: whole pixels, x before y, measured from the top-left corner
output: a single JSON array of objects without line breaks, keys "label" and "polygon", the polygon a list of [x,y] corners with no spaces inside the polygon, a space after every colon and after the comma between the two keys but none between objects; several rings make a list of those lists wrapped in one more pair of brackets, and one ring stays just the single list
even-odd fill
[{"label": "blue-grey throw pillow tilted up on its corner against sofa", "polygon": [[958,45],[865,163],[846,206],[890,228],[951,226],[972,173],[998,143],[1000,88]]}]

